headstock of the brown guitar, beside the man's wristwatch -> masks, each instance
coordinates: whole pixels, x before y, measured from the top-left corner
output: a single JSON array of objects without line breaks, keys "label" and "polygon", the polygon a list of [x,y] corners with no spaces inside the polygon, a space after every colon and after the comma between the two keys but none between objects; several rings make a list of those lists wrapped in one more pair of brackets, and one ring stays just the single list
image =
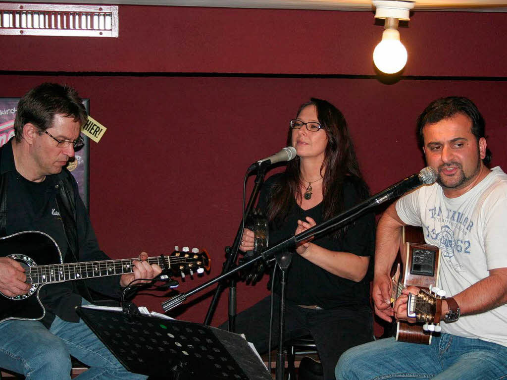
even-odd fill
[{"label": "headstock of the brown guitar, beside the man's wristwatch", "polygon": [[429,292],[421,289],[418,294],[410,293],[407,301],[408,317],[424,323],[424,331],[440,332],[442,298],[445,295],[446,292],[438,287],[430,287]]}]

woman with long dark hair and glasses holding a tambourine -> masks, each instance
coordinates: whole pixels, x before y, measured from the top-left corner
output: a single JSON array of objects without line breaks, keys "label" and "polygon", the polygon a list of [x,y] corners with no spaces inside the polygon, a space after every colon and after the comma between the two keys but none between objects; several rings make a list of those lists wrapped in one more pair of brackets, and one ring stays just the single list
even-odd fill
[{"label": "woman with long dark hair and glasses holding a tambourine", "polygon": [[[328,220],[369,195],[345,118],[328,101],[312,98],[300,107],[291,120],[287,145],[295,147],[298,156],[288,162],[285,172],[266,181],[259,199],[269,220],[271,243]],[[325,380],[334,379],[344,351],[373,339],[369,294],[374,239],[374,216],[367,214],[304,241],[292,255],[285,337],[313,336]],[[240,250],[252,250],[253,240],[253,232],[245,229]],[[276,344],[279,281],[273,291]],[[260,353],[268,350],[269,302],[267,297],[236,319],[236,332],[244,333]]]}]

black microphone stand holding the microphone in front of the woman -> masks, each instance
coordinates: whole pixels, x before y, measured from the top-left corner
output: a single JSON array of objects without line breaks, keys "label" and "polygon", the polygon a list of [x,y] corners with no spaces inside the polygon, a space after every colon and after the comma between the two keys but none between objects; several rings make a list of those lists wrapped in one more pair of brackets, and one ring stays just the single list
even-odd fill
[{"label": "black microphone stand holding the microphone in front of the woman", "polygon": [[[257,167],[257,177],[255,179],[255,185],[253,186],[252,192],[250,194],[250,199],[245,208],[244,220],[248,219],[250,215],[253,203],[257,198],[257,194],[261,189],[261,186],[264,182],[264,176],[266,175],[266,169],[269,166],[270,161],[268,160],[266,164],[260,164]],[[232,267],[236,263],[236,259],[238,257],[238,248],[241,241],[241,236],[243,235],[243,230],[241,226],[243,225],[244,220],[241,220],[238,231],[236,232],[236,237],[234,238],[234,243],[232,247],[226,248],[226,256],[227,260],[224,262],[222,267],[222,275],[220,279],[227,277],[229,273],[233,273],[231,270]],[[261,257],[261,256],[260,256]],[[236,278],[233,276],[229,280],[229,319],[228,319],[228,330],[234,332],[235,323],[236,323]],[[211,285],[211,284],[210,284]],[[206,318],[204,319],[204,325],[209,325],[211,323],[211,318],[216,309],[216,305],[218,304],[220,295],[222,294],[223,289],[225,288],[225,282],[220,281],[218,286],[216,286],[215,292],[213,294],[213,298],[211,299],[211,303],[208,307],[208,312],[206,314]]]}]

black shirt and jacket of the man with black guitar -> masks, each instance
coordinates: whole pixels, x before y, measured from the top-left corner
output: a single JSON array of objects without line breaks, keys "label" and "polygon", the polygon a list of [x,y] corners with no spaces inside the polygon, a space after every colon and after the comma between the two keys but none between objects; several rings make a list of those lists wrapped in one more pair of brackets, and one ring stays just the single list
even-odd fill
[{"label": "black shirt and jacket of the man with black guitar", "polygon": [[[64,262],[108,260],[109,257],[100,251],[91,226],[85,205],[79,196],[78,186],[66,168],[59,175],[46,176],[43,182],[35,183],[26,180],[16,170],[12,152],[12,141],[0,149],[0,175],[7,179],[7,225],[6,235],[16,232],[35,230],[50,235],[60,248]],[[59,178],[69,176],[73,179],[73,193],[76,203],[76,224],[79,239],[78,257],[70,252],[63,221],[57,206],[57,183]],[[33,258],[35,260],[35,258]],[[37,262],[37,260],[35,260]],[[81,280],[80,280],[81,281]],[[41,288],[39,296],[46,308],[46,316],[41,321],[49,328],[55,314],[70,322],[78,322],[79,317],[75,306],[81,304],[77,283],[49,284]],[[120,283],[118,276],[94,278],[86,281],[86,285],[94,291],[118,297]],[[33,297],[33,296],[32,296]]]}]

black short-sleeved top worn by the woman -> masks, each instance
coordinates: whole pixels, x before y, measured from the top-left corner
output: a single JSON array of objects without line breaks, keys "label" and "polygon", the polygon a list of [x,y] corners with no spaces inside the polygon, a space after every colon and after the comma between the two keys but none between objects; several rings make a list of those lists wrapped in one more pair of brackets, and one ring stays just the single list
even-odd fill
[{"label": "black short-sleeved top worn by the woman", "polygon": [[[259,197],[261,210],[266,210],[271,186],[276,181],[280,181],[283,175],[274,175],[266,181]],[[352,179],[347,179],[343,189],[336,189],[336,191],[344,192],[344,211],[363,200],[358,199],[356,184]],[[313,218],[317,224],[321,223],[323,221],[322,203],[312,209],[303,210],[294,199],[286,220],[276,224],[270,223],[270,246],[294,235],[298,219],[305,220],[307,216]],[[292,255],[292,263],[287,272],[286,299],[288,301],[299,305],[318,305],[324,309],[338,308],[344,305],[370,304],[370,281],[372,280],[375,251],[375,217],[373,213],[368,213],[351,223],[342,238],[325,234],[312,240],[312,243],[331,251],[370,256],[369,270],[363,281],[356,283],[341,278],[295,253]],[[275,284],[275,293],[280,293],[279,282]]]}]

